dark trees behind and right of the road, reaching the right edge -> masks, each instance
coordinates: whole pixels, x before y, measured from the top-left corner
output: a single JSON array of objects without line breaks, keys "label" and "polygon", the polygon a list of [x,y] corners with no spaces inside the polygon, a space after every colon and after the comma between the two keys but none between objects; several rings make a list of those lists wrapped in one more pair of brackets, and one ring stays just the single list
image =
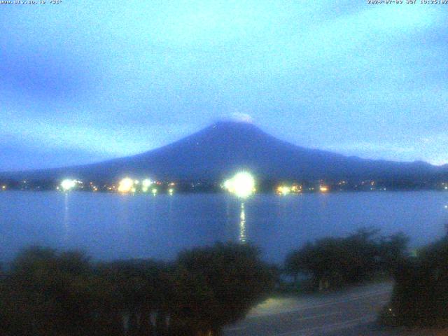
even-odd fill
[{"label": "dark trees behind and right of the road, reaching the right edge", "polygon": [[407,253],[405,235],[378,233],[363,229],[306,244],[288,255],[284,270],[293,276],[293,283],[309,283],[311,290],[391,276],[395,285],[391,302],[379,316],[382,324],[447,328],[448,225],[445,237],[416,255]]}]

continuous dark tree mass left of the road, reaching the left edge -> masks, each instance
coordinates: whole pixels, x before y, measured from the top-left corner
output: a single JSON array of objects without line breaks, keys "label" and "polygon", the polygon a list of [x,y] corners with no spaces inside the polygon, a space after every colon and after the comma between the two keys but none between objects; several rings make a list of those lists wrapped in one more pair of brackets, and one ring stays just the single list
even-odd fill
[{"label": "continuous dark tree mass left of the road, reaching the left edge", "polygon": [[240,244],[184,251],[172,265],[29,248],[0,286],[0,335],[199,336],[243,318],[274,276]]}]

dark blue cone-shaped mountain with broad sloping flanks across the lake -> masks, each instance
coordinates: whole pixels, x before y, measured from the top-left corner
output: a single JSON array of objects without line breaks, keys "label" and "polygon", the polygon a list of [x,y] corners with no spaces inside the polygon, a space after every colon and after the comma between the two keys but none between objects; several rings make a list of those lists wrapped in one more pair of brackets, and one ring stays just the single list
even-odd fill
[{"label": "dark blue cone-shaped mountain with broad sloping flanks across the lake", "polygon": [[92,165],[2,173],[11,179],[223,179],[246,169],[259,179],[433,179],[448,167],[346,157],[281,141],[251,123],[219,122],[184,139]]}]

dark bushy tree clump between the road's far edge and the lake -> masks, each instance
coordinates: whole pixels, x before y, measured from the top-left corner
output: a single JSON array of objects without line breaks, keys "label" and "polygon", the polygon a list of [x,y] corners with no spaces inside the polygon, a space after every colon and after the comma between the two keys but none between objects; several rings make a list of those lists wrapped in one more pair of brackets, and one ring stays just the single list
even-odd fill
[{"label": "dark bushy tree clump between the road's far edge and the lake", "polygon": [[[384,278],[406,258],[408,241],[402,233],[382,237],[378,230],[361,229],[306,244],[286,257],[284,269],[293,283],[307,282],[310,290]],[[297,281],[304,276],[308,281]]]}]

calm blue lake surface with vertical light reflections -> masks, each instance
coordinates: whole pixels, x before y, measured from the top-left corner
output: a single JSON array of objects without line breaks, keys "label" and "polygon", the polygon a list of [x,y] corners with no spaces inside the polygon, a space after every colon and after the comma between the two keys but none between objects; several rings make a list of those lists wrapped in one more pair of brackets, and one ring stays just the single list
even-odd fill
[{"label": "calm blue lake surface with vertical light reflections", "polygon": [[29,245],[78,248],[94,259],[171,260],[183,248],[248,241],[269,262],[324,236],[360,227],[402,231],[421,246],[444,235],[448,193],[372,192],[255,195],[0,193],[0,260]]}]

